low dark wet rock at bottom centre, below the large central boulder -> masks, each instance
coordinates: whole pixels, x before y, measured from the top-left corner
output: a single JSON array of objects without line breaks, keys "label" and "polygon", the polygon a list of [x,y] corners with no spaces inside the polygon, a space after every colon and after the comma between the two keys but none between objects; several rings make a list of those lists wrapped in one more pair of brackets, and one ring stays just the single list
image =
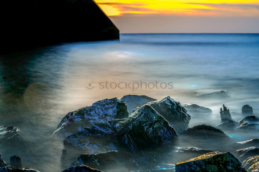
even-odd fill
[{"label": "low dark wet rock at bottom centre, below the large central boulder", "polygon": [[[92,168],[98,168],[102,171],[128,171],[125,167],[133,168],[136,164],[128,154],[120,154],[118,151],[109,151],[98,154],[82,154],[77,160],[71,163],[72,166],[88,165]],[[124,169],[124,170],[123,170]]]}]

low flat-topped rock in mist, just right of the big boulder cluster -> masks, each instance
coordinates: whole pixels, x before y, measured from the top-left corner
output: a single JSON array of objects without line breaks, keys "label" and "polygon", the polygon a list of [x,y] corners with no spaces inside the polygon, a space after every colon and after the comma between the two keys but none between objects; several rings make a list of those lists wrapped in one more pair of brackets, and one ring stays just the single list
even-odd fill
[{"label": "low flat-topped rock in mist, just right of the big boulder cluster", "polygon": [[207,107],[204,107],[204,106],[201,106],[201,105],[198,105],[198,104],[193,104],[193,103],[185,103],[182,105],[189,114],[191,115],[198,115],[198,114],[211,114],[212,113],[212,110],[207,108]]}]

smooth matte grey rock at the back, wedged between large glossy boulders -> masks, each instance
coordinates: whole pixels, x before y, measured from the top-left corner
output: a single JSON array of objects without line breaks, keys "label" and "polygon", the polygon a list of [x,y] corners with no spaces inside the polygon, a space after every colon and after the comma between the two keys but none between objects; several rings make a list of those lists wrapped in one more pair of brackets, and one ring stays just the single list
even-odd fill
[{"label": "smooth matte grey rock at the back, wedged between large glossy boulders", "polygon": [[127,108],[128,108],[128,113],[131,114],[132,111],[136,108],[136,107],[140,107],[143,106],[145,104],[147,104],[150,101],[156,101],[157,99],[152,98],[152,97],[148,97],[145,95],[136,95],[136,94],[129,94],[129,95],[125,95],[121,98],[121,100],[124,100],[127,104]]}]

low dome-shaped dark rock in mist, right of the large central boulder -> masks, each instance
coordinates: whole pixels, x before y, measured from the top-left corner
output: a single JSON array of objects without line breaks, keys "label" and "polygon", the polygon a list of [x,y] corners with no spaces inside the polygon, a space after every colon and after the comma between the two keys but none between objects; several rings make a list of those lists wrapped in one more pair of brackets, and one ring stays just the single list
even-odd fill
[{"label": "low dome-shaped dark rock in mist, right of the large central boulder", "polygon": [[193,139],[204,139],[204,140],[214,140],[214,141],[229,141],[230,138],[223,131],[209,125],[198,125],[181,133],[181,136],[189,137]]}]

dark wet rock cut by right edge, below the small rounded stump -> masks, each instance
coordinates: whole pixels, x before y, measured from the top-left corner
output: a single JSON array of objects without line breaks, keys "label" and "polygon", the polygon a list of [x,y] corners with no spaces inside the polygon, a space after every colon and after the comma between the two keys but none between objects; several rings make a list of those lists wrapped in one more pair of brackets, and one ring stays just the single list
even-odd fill
[{"label": "dark wet rock cut by right edge, below the small rounded stump", "polygon": [[239,122],[238,130],[258,130],[259,118],[255,115],[244,117]]}]

